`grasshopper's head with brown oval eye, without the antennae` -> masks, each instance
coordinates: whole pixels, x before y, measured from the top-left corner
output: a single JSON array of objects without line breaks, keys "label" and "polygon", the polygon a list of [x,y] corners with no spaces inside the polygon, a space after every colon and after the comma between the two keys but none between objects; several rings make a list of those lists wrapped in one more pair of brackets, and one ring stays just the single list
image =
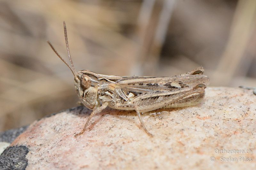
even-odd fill
[{"label": "grasshopper's head with brown oval eye, without the antennae", "polygon": [[98,80],[91,71],[77,72],[74,83],[77,95],[84,106],[93,109],[98,105]]}]

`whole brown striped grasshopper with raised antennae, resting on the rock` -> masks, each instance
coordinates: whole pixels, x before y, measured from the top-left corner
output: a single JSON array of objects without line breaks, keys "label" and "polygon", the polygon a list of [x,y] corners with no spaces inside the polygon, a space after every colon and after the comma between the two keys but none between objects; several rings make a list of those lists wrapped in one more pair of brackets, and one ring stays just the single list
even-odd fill
[{"label": "whole brown striped grasshopper with raised antennae, resting on the rock", "polygon": [[120,110],[135,110],[140,123],[149,136],[140,113],[159,108],[185,107],[196,105],[204,98],[209,78],[202,75],[203,67],[172,77],[108,76],[89,70],[76,72],[70,56],[65,21],[63,22],[68,58],[71,66],[58,54],[74,75],[77,95],[81,103],[92,110],[84,128],[75,137],[84,133],[91,118],[107,106]]}]

